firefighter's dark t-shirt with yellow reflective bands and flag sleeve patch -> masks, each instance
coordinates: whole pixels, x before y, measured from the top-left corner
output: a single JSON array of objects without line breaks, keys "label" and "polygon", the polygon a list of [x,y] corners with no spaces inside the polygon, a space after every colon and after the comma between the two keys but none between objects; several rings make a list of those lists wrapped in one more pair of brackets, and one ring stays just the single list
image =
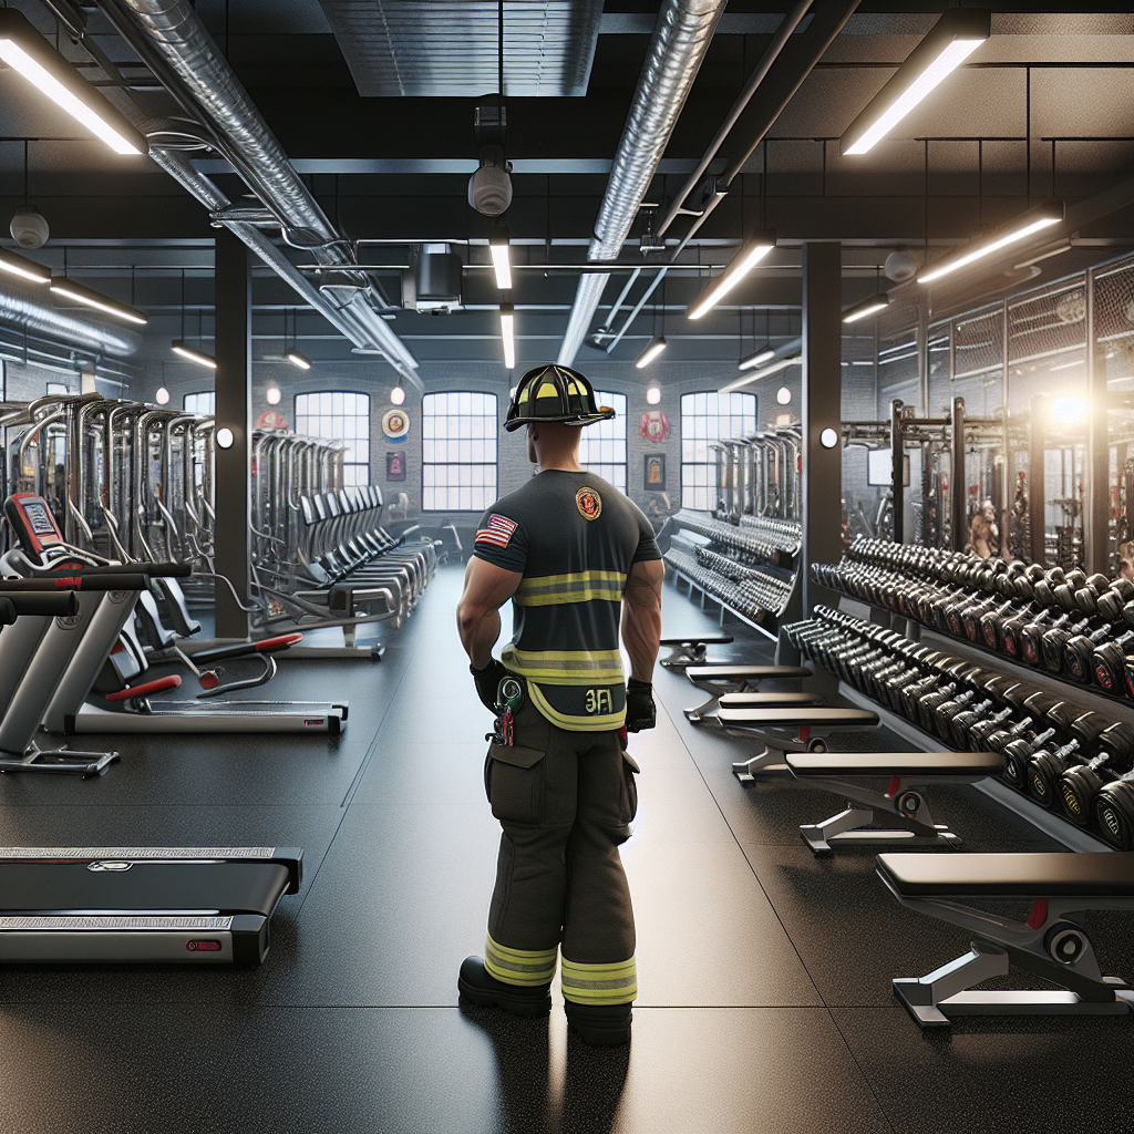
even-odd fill
[{"label": "firefighter's dark t-shirt with yellow reflective bands and flag sleeve patch", "polygon": [[633,564],[661,558],[641,509],[601,476],[549,468],[481,517],[473,553],[524,576],[501,657],[540,712],[572,731],[620,728],[623,591]]}]

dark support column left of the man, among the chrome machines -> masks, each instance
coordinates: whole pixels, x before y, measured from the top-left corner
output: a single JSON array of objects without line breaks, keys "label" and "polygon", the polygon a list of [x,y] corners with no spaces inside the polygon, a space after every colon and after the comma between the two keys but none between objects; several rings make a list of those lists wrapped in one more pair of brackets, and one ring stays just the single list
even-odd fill
[{"label": "dark support column left of the man, among the chrome machines", "polygon": [[[217,445],[217,573],[248,601],[252,479],[252,265],[248,248],[228,229],[217,232],[213,268],[217,312],[217,433],[229,430],[229,448]],[[248,616],[228,587],[217,587],[217,637],[248,636]]]}]

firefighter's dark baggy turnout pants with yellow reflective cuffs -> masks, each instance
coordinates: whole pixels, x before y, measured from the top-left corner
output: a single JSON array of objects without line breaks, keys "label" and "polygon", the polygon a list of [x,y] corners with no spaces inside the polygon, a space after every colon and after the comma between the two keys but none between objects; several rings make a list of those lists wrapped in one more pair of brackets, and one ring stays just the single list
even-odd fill
[{"label": "firefighter's dark baggy turnout pants with yellow reflective cuffs", "polygon": [[514,744],[492,744],[484,787],[503,835],[485,967],[540,985],[562,950],[564,997],[628,1004],[637,995],[634,911],[618,847],[637,810],[637,765],[620,733],[570,733],[531,701]]}]

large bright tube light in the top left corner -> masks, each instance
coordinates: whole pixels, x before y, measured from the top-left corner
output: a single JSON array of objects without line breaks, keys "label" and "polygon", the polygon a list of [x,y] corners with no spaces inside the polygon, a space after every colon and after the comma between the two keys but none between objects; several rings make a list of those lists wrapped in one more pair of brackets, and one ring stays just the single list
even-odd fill
[{"label": "large bright tube light in the top left corner", "polygon": [[149,152],[142,134],[15,8],[0,9],[0,59],[115,153]]}]

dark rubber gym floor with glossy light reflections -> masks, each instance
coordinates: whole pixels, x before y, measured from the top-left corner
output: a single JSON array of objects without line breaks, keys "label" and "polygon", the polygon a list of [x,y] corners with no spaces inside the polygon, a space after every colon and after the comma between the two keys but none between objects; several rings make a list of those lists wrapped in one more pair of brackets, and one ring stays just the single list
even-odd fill
[{"label": "dark rubber gym floor with glossy light reflections", "polygon": [[[381,663],[281,665],[271,696],[349,699],[339,738],[87,737],[122,755],[101,779],[0,777],[7,845],[305,853],[261,968],[0,970],[0,1131],[1131,1129],[1134,1019],[921,1032],[890,979],[958,955],[965,934],[899,907],[870,850],[814,858],[797,827],[839,801],[743,788],[729,764],[745,743],[688,725],[700,692],[660,669],[658,728],[632,737],[641,804],[623,848],[632,1046],[568,1036],[558,988],[550,1022],[459,1009],[499,839],[482,785],[491,721],[455,631],[460,577],[442,567],[406,626],[382,629]],[[665,626],[716,619],[667,585]],[[728,628],[719,657],[770,660],[754,632]],[[1059,849],[975,789],[931,792],[967,849]],[[1089,929],[1105,971],[1132,975],[1128,915]]]}]

